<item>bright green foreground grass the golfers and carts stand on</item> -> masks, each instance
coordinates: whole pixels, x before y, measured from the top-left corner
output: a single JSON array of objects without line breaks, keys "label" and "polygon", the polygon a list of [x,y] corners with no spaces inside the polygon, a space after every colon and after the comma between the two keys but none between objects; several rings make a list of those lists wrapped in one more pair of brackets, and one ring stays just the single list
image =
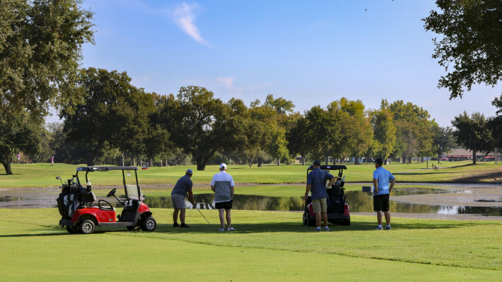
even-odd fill
[{"label": "bright green foreground grass the golfers and carts stand on", "polygon": [[[57,209],[0,209],[4,281],[500,281],[502,224],[375,218],[310,232],[300,213],[232,211],[236,232],[217,232],[196,210],[191,228],[153,209],[155,232],[101,228],[71,235]],[[202,210],[214,225],[216,211]]]}]

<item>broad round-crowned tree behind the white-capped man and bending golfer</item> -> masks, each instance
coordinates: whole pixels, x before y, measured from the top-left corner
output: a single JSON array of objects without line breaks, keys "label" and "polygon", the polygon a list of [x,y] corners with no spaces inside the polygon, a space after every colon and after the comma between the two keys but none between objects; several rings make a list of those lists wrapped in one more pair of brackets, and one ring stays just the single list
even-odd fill
[{"label": "broad round-crowned tree behind the white-capped man and bending golfer", "polygon": [[191,154],[197,170],[204,170],[217,152],[233,151],[244,142],[241,100],[224,103],[204,87],[181,87],[177,99],[162,110],[163,126],[171,133],[175,145]]}]

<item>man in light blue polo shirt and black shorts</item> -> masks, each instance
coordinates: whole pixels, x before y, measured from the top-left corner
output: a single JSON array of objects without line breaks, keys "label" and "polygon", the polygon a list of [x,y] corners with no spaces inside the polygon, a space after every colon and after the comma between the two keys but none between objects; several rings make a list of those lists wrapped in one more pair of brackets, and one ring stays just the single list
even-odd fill
[{"label": "man in light blue polo shirt and black shorts", "polygon": [[[374,230],[383,230],[382,227],[382,211],[385,214],[387,227],[385,230],[391,230],[391,213],[389,212],[389,193],[392,192],[396,178],[392,173],[382,167],[384,160],[378,158],[375,160],[376,170],[373,172],[373,210],[376,211],[378,226]],[[392,181],[389,187],[389,181]]]}]

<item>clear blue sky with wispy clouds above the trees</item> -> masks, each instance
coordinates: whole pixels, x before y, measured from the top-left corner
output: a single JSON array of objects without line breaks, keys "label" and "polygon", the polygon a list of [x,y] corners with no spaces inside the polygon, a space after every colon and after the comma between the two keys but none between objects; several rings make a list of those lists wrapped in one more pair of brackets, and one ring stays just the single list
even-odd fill
[{"label": "clear blue sky with wispy clouds above the trees", "polygon": [[[127,71],[149,92],[196,85],[246,105],[268,94],[303,113],[347,97],[367,108],[405,100],[442,126],[467,110],[493,115],[502,88],[475,86],[449,100],[437,82],[421,19],[434,1],[139,1],[93,0],[95,45],[83,67]],[[49,120],[51,121],[51,120]]]}]

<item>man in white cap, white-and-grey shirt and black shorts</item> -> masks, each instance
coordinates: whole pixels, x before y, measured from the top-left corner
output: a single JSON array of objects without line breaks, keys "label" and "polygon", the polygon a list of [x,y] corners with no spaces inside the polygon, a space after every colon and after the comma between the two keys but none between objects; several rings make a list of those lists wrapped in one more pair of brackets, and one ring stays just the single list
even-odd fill
[{"label": "man in white cap, white-and-grey shirt and black shorts", "polygon": [[232,200],[233,187],[232,177],[226,173],[226,165],[220,165],[220,172],[213,176],[211,180],[211,190],[214,192],[214,207],[218,209],[220,218],[220,229],[225,231],[225,213],[226,213],[226,230],[235,231],[232,227]]}]

